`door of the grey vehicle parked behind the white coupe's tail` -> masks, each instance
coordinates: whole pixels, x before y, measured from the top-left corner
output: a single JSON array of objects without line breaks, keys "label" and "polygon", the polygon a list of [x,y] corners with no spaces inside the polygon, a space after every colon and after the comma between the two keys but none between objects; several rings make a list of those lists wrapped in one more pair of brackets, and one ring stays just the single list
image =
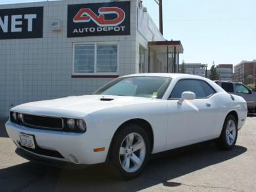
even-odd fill
[{"label": "door of the grey vehicle parked behind the white coupe's tail", "polygon": [[236,94],[245,99],[248,109],[255,109],[255,95],[246,86],[236,83]]}]

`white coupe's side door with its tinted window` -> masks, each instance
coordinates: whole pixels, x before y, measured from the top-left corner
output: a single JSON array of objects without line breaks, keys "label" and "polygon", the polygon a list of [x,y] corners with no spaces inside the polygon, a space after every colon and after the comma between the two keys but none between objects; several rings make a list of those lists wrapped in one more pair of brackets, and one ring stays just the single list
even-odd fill
[{"label": "white coupe's side door with its tinted window", "polygon": [[[177,104],[184,91],[196,94],[195,100]],[[215,90],[205,81],[181,79],[168,99],[167,149],[202,142],[216,136],[217,115],[212,109],[211,96]]]}]

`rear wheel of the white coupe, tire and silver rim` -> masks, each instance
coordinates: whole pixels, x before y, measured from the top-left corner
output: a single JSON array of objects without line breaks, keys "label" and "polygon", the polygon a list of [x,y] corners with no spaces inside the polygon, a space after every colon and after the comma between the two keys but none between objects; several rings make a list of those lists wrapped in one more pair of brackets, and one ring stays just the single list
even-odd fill
[{"label": "rear wheel of the white coupe, tire and silver rim", "polygon": [[228,115],[224,121],[221,136],[217,140],[219,149],[230,150],[236,145],[238,138],[238,123],[233,115]]}]

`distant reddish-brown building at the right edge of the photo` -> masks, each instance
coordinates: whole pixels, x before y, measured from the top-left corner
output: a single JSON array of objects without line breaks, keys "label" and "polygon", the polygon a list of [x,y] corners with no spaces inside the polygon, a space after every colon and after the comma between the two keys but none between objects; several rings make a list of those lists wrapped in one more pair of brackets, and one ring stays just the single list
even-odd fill
[{"label": "distant reddish-brown building at the right edge of the photo", "polygon": [[245,85],[256,83],[256,60],[242,61],[234,66],[234,81]]}]

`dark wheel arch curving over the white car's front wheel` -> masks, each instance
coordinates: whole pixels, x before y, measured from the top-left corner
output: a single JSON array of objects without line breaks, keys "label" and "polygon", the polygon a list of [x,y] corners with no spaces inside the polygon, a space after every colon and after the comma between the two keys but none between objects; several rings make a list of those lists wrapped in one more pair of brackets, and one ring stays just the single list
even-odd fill
[{"label": "dark wheel arch curving over the white car's front wheel", "polygon": [[148,121],[146,121],[145,119],[140,119],[140,118],[129,119],[129,120],[125,121],[124,123],[122,123],[120,126],[118,126],[116,132],[114,133],[114,136],[112,137],[112,140],[110,142],[110,147],[108,149],[108,155],[107,155],[106,161],[109,160],[110,150],[112,148],[112,144],[113,144],[116,134],[121,130],[121,128],[123,126],[129,125],[129,124],[140,125],[146,131],[146,133],[148,134],[148,139],[150,140],[150,153],[152,153],[153,147],[154,147],[154,132],[153,132],[153,128],[150,125],[150,123]]}]

